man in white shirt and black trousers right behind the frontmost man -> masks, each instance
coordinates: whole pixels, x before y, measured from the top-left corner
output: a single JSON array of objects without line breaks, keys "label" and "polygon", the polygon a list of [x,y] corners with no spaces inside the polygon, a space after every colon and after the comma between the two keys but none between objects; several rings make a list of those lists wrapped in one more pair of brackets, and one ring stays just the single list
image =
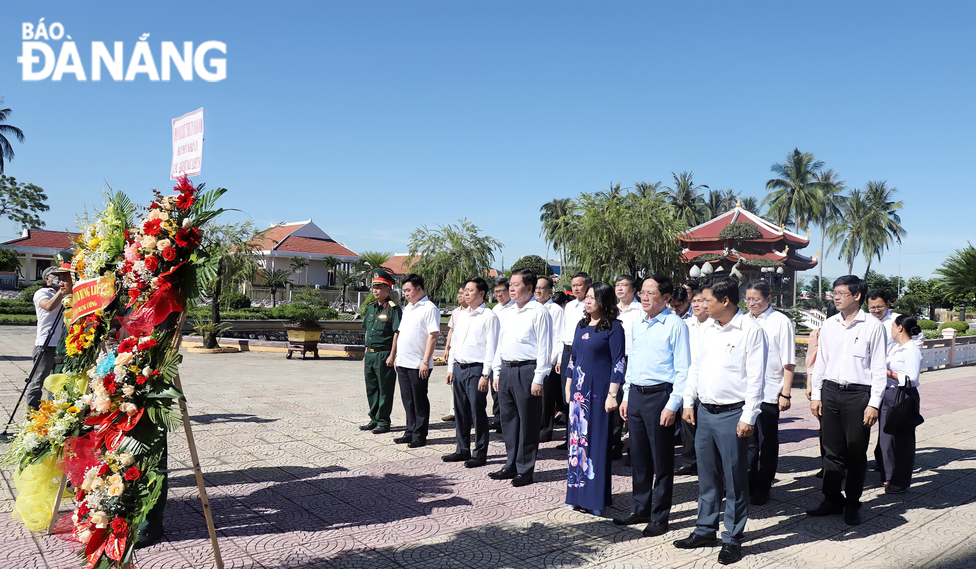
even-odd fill
[{"label": "man in white shirt and black trousers right behind the frontmost man", "polygon": [[773,309],[772,291],[767,283],[756,281],[746,289],[750,317],[766,333],[766,386],[759,405],[759,421],[749,442],[749,503],[769,502],[769,489],[776,477],[780,456],[780,413],[790,409],[793,370],[796,368],[796,332],[783,312]]}]

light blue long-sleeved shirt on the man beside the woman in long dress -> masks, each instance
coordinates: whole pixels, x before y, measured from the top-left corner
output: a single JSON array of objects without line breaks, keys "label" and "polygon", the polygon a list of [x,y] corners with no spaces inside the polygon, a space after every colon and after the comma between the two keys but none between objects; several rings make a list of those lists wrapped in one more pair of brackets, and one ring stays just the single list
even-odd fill
[{"label": "light blue long-sleeved shirt on the man beside the woman in long dress", "polygon": [[624,400],[630,396],[630,386],[672,384],[667,407],[677,412],[691,365],[688,325],[671,308],[665,308],[653,318],[644,313],[643,318],[633,323],[632,333]]}]

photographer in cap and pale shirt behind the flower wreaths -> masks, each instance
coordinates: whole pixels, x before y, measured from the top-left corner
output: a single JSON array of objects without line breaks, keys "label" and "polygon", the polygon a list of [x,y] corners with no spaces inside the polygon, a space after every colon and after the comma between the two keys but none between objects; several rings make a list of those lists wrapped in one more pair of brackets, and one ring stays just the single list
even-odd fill
[{"label": "photographer in cap and pale shirt behind the flower wreaths", "polygon": [[27,409],[37,409],[41,402],[41,387],[55,367],[55,348],[61,339],[64,322],[61,300],[71,293],[71,273],[58,266],[49,266],[41,273],[44,286],[34,293],[37,312],[37,337],[34,340],[34,361],[37,366],[27,384]]}]

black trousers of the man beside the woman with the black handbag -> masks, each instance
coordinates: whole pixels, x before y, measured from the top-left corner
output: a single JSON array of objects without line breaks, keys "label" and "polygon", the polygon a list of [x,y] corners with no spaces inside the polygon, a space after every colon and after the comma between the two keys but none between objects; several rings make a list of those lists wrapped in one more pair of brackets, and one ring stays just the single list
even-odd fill
[{"label": "black trousers of the man beside the woman with the black handbag", "polygon": [[[871,427],[864,425],[864,410],[871,399],[869,391],[840,389],[824,382],[821,400],[824,436],[824,498],[834,504],[858,506],[868,471],[868,441]],[[847,470],[844,494],[840,485]]]}]

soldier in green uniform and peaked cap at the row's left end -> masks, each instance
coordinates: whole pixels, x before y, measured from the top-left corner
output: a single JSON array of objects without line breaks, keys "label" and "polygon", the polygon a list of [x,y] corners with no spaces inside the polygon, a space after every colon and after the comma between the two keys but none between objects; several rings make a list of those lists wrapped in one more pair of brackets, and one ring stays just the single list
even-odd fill
[{"label": "soldier in green uniform and peaked cap at the row's left end", "polygon": [[393,277],[386,270],[374,270],[372,279],[376,301],[366,307],[366,316],[363,318],[363,329],[366,330],[366,353],[363,361],[366,398],[369,400],[369,423],[359,429],[383,434],[389,432],[389,412],[393,409],[393,389],[396,388],[393,333],[400,328],[403,308],[389,298]]}]

